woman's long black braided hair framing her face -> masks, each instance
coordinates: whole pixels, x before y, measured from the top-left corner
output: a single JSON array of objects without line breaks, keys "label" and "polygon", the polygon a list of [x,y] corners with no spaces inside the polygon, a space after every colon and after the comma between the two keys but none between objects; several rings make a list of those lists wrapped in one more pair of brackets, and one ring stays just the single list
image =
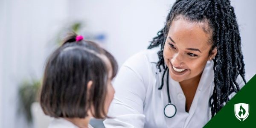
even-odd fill
[{"label": "woman's long black braided hair framing her face", "polygon": [[[240,75],[246,83],[241,38],[234,8],[230,5],[230,0],[177,0],[167,16],[164,28],[157,33],[148,47],[151,49],[161,46],[160,51],[157,52],[159,58],[157,68],[160,71],[161,66],[165,69],[163,47],[169,27],[178,17],[183,17],[190,22],[207,23],[212,32],[212,38],[209,41],[212,48],[209,54],[215,47],[218,51],[213,59],[215,87],[209,99],[213,117],[230,100],[228,96],[240,90],[236,82],[237,77]],[[205,28],[204,31],[209,32]]]}]

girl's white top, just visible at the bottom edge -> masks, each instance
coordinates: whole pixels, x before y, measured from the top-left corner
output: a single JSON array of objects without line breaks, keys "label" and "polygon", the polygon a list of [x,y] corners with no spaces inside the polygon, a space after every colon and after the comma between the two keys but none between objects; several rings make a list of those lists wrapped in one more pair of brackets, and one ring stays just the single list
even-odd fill
[{"label": "girl's white top, just visible at the bottom edge", "polygon": [[[64,118],[54,118],[52,122],[50,122],[48,128],[79,128],[79,127],[77,127],[72,122]],[[88,124],[88,128],[93,128],[93,127],[90,124]]]}]

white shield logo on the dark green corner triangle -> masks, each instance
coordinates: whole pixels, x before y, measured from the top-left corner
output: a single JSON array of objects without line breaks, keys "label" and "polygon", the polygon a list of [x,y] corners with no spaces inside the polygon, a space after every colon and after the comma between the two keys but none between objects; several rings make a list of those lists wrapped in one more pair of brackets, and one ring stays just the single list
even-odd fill
[{"label": "white shield logo on the dark green corner triangle", "polygon": [[244,121],[249,116],[249,104],[239,103],[235,104],[235,115],[240,121]]}]

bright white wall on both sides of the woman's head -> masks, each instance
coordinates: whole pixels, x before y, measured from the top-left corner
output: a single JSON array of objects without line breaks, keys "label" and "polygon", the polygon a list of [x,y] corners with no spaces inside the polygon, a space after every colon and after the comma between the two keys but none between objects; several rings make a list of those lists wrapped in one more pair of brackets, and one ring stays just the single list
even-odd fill
[{"label": "bright white wall on both sides of the woman's head", "polygon": [[[175,0],[72,0],[70,17],[85,20],[91,32],[107,34],[106,48],[119,66],[134,53],[146,49],[163,28]],[[253,38],[256,29],[255,0],[231,0],[241,31],[246,79],[256,74]]]}]

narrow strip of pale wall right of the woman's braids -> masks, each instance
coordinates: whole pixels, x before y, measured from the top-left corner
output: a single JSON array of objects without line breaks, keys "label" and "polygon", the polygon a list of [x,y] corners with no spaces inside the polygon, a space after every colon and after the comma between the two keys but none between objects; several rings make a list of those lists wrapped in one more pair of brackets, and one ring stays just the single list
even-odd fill
[{"label": "narrow strip of pale wall right of the woman's braids", "polygon": [[239,24],[245,77],[249,81],[256,74],[256,0],[231,0]]}]

